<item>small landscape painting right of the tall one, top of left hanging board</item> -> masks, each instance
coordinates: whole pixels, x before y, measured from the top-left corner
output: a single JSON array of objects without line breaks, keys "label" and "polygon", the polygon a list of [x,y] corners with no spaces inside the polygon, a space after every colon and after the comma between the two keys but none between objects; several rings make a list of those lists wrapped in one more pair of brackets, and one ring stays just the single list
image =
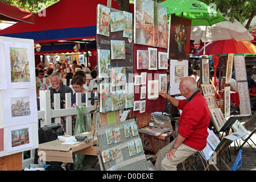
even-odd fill
[{"label": "small landscape painting right of the tall one, top of left hanging board", "polygon": [[125,30],[125,15],[123,11],[110,13],[110,32]]}]

